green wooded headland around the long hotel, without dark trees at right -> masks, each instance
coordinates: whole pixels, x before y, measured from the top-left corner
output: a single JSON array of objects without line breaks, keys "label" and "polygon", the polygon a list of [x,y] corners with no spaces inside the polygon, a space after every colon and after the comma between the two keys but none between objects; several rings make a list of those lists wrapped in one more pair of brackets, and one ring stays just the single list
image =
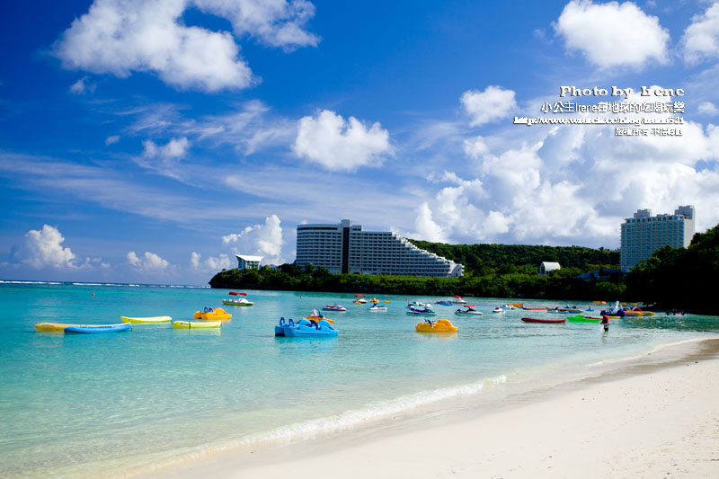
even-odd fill
[{"label": "green wooded headland around the long hotel, without dark trees at right", "polygon": [[[579,246],[413,243],[452,261],[461,262],[465,265],[465,275],[462,278],[424,278],[332,274],[324,268],[310,266],[300,269],[294,264],[283,264],[279,270],[261,268],[221,271],[210,279],[209,284],[212,288],[564,299],[611,298],[618,297],[624,291],[621,284],[587,282],[574,278],[601,267],[617,268],[617,251]],[[537,271],[543,261],[560,262],[563,268],[549,276],[539,276]]]}]

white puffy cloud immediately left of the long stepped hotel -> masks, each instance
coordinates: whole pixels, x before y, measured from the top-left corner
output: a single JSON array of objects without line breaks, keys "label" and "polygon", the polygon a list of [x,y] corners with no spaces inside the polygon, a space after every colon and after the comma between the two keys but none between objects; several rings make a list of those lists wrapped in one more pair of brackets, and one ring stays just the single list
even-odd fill
[{"label": "white puffy cloud immediately left of the long stepped hotel", "polygon": [[280,263],[282,227],[277,215],[266,217],[264,225],[247,226],[237,234],[222,237],[222,243],[232,245],[234,253],[262,256],[262,263]]}]

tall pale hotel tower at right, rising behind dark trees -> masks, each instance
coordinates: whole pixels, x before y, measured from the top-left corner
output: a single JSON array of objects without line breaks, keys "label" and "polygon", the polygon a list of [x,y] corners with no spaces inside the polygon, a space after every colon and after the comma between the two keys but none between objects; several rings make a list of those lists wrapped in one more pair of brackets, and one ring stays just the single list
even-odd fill
[{"label": "tall pale hotel tower at right, rising behind dark trees", "polygon": [[673,215],[652,217],[651,209],[638,209],[622,223],[622,271],[646,260],[661,246],[686,248],[694,236],[694,206],[680,206]]}]

